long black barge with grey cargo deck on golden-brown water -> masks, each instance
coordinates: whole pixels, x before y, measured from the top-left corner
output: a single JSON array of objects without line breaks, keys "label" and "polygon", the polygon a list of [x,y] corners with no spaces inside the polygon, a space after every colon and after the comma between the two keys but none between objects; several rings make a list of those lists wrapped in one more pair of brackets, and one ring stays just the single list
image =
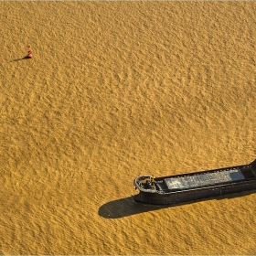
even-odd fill
[{"label": "long black barge with grey cargo deck on golden-brown water", "polygon": [[208,197],[256,189],[256,159],[247,165],[199,171],[174,176],[138,176],[133,185],[139,194],[133,201],[151,205],[173,205]]}]

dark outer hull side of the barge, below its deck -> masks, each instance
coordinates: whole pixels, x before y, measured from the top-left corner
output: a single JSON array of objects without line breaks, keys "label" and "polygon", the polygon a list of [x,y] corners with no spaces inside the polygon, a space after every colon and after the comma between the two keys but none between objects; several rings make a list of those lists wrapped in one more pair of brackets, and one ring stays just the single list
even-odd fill
[{"label": "dark outer hull side of the barge, below its deck", "polygon": [[[251,164],[255,165],[255,161]],[[244,165],[240,165],[239,167],[241,166]],[[229,182],[226,184],[208,187],[187,188],[173,192],[168,191],[166,193],[159,193],[159,191],[150,192],[145,189],[140,189],[140,193],[134,196],[133,199],[135,202],[143,204],[173,205],[208,197],[219,197],[233,193],[240,193],[242,191],[256,189],[256,169],[254,169],[252,174],[254,177],[248,179],[245,178],[236,182]]]}]

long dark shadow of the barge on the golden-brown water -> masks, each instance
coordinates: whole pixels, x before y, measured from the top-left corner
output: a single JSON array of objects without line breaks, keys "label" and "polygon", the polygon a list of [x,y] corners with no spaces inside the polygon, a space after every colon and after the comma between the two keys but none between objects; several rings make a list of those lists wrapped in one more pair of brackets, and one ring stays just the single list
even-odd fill
[{"label": "long dark shadow of the barge on the golden-brown water", "polygon": [[240,193],[234,193],[234,194],[229,194],[229,195],[223,195],[219,197],[208,197],[204,199],[198,199],[194,201],[188,201],[184,203],[178,203],[175,205],[144,205],[141,203],[136,203],[133,201],[133,196],[131,197],[124,197],[121,199],[116,199],[110,202],[107,202],[99,208],[98,214],[106,219],[120,219],[123,217],[128,217],[132,216],[135,214],[140,214],[148,211],[154,211],[154,210],[159,210],[163,208],[175,208],[178,206],[183,206],[183,205],[189,205],[193,204],[196,202],[202,202],[202,201],[208,201],[208,200],[221,200],[224,198],[232,199],[235,197],[245,197],[248,195],[251,195],[255,193],[256,190],[249,190],[249,191],[244,191]]}]

